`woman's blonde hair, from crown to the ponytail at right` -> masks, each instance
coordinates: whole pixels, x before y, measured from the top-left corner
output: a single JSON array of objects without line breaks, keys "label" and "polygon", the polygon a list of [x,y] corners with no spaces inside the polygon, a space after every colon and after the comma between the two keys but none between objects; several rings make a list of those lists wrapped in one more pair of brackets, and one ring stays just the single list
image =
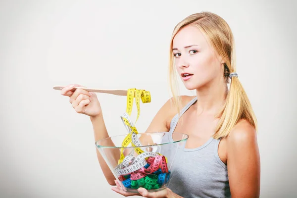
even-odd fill
[{"label": "woman's blonde hair, from crown to the ponytail at right", "polygon": [[[193,25],[206,36],[213,49],[223,58],[224,77],[229,83],[229,74],[236,71],[235,46],[232,31],[226,21],[211,12],[200,12],[192,14],[179,22],[172,33],[169,52],[169,84],[173,95],[172,102],[180,115],[182,108],[181,96],[178,94],[178,82],[174,66],[174,55],[172,53],[173,39],[175,35],[185,26]],[[247,94],[237,77],[232,77],[230,90],[226,102],[220,112],[216,115],[220,118],[215,129],[213,138],[219,139],[228,136],[231,129],[241,119],[246,119],[256,130],[257,121],[252,110]]]}]

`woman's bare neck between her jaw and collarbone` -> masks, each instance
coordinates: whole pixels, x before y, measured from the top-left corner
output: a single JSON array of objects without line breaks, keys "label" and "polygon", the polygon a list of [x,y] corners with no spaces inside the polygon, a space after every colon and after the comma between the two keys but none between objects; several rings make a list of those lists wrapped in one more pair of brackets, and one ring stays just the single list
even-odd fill
[{"label": "woman's bare neck between her jaw and collarbone", "polygon": [[202,113],[217,114],[225,103],[227,92],[228,87],[223,77],[197,89],[197,115]]}]

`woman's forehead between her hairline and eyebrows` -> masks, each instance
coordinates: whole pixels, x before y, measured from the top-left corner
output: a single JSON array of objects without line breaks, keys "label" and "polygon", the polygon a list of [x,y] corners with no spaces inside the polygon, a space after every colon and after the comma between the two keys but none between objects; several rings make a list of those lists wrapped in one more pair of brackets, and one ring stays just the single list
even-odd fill
[{"label": "woman's forehead between her hairline and eyebrows", "polygon": [[198,45],[200,47],[208,46],[202,32],[198,27],[188,25],[182,28],[173,39],[173,48],[184,48],[185,46]]}]

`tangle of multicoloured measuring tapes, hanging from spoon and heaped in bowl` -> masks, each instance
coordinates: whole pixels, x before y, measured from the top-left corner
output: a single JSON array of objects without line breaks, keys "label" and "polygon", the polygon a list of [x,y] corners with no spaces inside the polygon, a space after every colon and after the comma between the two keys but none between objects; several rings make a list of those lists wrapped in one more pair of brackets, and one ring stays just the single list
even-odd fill
[{"label": "tangle of multicoloured measuring tapes, hanging from spoon and heaped in bowl", "polygon": [[[121,148],[120,159],[114,170],[118,179],[126,188],[137,189],[144,187],[147,190],[159,189],[168,182],[170,177],[167,158],[160,153],[148,152],[138,148],[141,147],[137,137],[138,131],[129,117],[132,112],[134,97],[137,105],[136,122],[140,115],[140,99],[143,103],[151,101],[148,91],[135,88],[128,90],[127,108],[126,112],[121,115],[121,119],[129,133],[123,140],[122,147],[127,147],[131,144],[135,149],[125,156],[123,153],[124,148]],[[138,153],[138,156],[135,157],[134,152]]]}]

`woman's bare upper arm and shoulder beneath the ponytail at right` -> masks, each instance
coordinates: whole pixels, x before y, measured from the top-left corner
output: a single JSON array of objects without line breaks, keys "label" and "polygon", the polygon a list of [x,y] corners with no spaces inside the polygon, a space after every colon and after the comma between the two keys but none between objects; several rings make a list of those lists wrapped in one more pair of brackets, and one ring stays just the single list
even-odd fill
[{"label": "woman's bare upper arm and shoulder beneath the ponytail at right", "polygon": [[231,195],[259,198],[260,156],[254,128],[241,121],[227,138],[227,164]]}]

